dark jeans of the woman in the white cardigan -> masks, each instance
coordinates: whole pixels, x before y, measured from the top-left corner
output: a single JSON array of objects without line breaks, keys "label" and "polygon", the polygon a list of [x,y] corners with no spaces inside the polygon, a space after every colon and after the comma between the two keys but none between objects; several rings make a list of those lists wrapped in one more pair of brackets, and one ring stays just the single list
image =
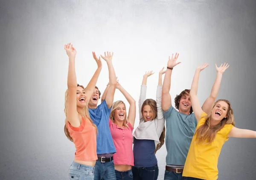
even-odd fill
[{"label": "dark jeans of the woman in the white cardigan", "polygon": [[158,166],[143,167],[143,168],[132,168],[134,180],[157,180],[158,177]]}]

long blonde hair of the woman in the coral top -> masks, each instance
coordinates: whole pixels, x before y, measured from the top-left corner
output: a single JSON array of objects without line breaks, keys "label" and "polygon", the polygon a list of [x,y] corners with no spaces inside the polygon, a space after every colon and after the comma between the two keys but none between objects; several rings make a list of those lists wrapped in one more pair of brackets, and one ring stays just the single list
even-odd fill
[{"label": "long blonde hair of the woman in the coral top", "polygon": [[[77,86],[80,86],[81,88],[84,89],[84,86],[82,85],[79,85],[77,84]],[[65,132],[65,135],[67,136],[67,138],[73,142],[73,139],[72,137],[70,136],[70,133],[67,129],[67,104],[68,104],[68,101],[67,101],[67,96],[68,96],[68,90],[66,90],[65,92],[65,108],[64,108],[64,113],[66,115],[66,118],[65,118],[65,125],[64,125],[64,132]],[[90,97],[87,97],[87,99],[90,98]],[[82,110],[82,112],[78,112],[79,113],[79,121],[87,121],[87,119],[91,122],[91,124],[93,125],[93,127],[96,128],[96,133],[98,132],[98,129],[96,127],[95,124],[93,124],[93,121],[91,120],[90,118],[90,114],[89,114],[89,109],[88,109],[88,105],[86,103],[84,109]]]}]

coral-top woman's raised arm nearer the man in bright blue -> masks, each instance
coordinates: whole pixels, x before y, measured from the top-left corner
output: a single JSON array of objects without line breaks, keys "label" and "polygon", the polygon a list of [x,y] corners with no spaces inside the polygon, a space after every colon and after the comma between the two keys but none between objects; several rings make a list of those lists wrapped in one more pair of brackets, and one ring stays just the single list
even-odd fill
[{"label": "coral-top woman's raised arm nearer the man in bright blue", "polygon": [[[102,70],[102,62],[101,62],[101,59],[100,59],[100,57],[97,58],[95,52],[93,52],[93,58],[94,58],[94,60],[96,61],[97,65],[98,65],[98,68],[97,68],[97,70],[95,71],[95,73],[93,74],[92,79],[90,80],[90,82],[87,84],[87,86],[86,86],[86,88],[85,88],[85,92],[86,92],[87,99],[90,99],[90,97],[93,95],[93,92],[94,92],[96,83],[97,83],[98,78],[99,78],[99,73],[100,73],[100,71]],[[87,101],[87,104],[88,104],[88,103],[89,103],[89,101]]]}]

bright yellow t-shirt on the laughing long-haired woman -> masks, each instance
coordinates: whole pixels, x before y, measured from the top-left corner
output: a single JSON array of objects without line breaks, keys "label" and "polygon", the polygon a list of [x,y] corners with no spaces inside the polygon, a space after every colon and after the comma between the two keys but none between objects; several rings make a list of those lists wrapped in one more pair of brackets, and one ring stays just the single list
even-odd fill
[{"label": "bright yellow t-shirt on the laughing long-haired woman", "polygon": [[[205,123],[206,119],[203,116],[206,115],[206,113],[202,113],[196,129]],[[217,132],[216,137],[211,144],[196,143],[194,135],[189,147],[182,175],[184,177],[217,180],[218,157],[221,153],[223,144],[229,139],[227,136],[232,128],[232,124],[226,124],[219,132]]]}]

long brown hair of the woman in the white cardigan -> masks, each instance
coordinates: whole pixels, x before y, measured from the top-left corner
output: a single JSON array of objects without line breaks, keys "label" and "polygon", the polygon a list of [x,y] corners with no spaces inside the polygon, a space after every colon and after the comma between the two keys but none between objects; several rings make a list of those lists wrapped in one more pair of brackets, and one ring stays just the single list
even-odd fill
[{"label": "long brown hair of the woman in the white cardigan", "polygon": [[[155,115],[155,117],[154,117],[153,119],[157,118],[157,102],[156,102],[154,99],[146,99],[146,100],[143,102],[142,106],[141,106],[141,112],[140,112],[140,113],[141,113],[142,115],[143,115],[143,108],[144,108],[145,105],[148,105],[148,106],[151,107],[151,109],[152,109],[152,111],[153,111],[153,113],[154,113],[154,115]],[[165,130],[166,130],[166,128],[163,127],[163,132],[161,133],[160,138],[159,138],[160,143],[157,144],[156,149],[155,149],[155,153],[156,153],[157,150],[159,150],[159,149],[163,146],[163,144],[164,144]]]}]

